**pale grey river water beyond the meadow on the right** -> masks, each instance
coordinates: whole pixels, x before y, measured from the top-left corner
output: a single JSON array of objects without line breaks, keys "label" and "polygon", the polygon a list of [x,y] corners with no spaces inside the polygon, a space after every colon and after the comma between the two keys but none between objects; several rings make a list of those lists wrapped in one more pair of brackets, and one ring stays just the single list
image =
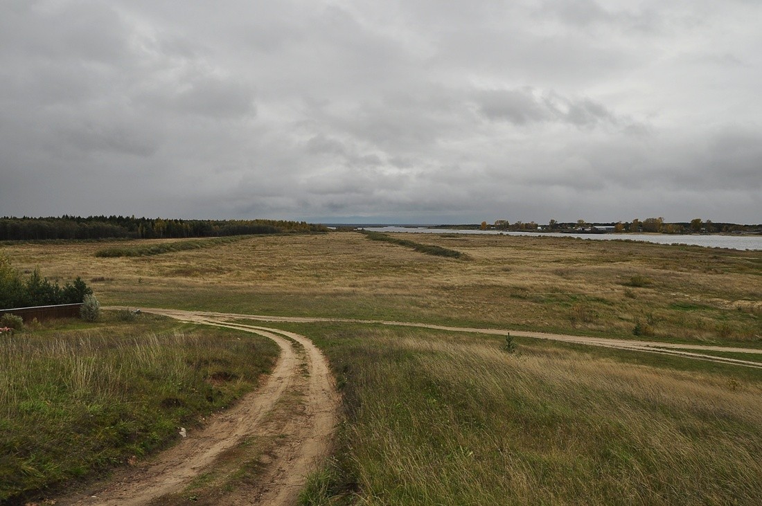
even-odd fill
[{"label": "pale grey river water beyond the meadow on the right", "polygon": [[411,234],[503,234],[534,237],[579,237],[589,240],[642,240],[656,244],[689,244],[730,250],[762,250],[760,235],[672,235],[672,234],[560,234],[558,232],[510,232],[494,230],[458,230],[454,228],[363,227],[374,232],[407,232]]}]

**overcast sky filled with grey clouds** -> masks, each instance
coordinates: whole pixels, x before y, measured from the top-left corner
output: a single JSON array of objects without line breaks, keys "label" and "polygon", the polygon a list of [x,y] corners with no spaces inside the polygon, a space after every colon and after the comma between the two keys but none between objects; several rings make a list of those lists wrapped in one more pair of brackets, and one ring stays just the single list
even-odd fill
[{"label": "overcast sky filled with grey clouds", "polygon": [[759,0],[2,0],[0,215],[762,222]]}]

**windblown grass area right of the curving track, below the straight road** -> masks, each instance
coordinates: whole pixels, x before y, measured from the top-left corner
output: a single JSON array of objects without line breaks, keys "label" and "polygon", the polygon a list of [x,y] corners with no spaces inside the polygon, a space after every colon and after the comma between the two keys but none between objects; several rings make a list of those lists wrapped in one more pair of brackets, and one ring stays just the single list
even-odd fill
[{"label": "windblown grass area right of the curving track, below the straight road", "polygon": [[335,459],[302,504],[762,497],[758,371],[738,380],[528,339],[510,354],[500,338],[418,329],[300,331],[328,355],[345,410]]}]

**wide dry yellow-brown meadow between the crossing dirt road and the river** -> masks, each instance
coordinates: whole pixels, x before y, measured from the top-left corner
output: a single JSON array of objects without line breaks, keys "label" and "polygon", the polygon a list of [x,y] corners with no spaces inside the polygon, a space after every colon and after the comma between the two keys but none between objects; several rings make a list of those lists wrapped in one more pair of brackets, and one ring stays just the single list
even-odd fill
[{"label": "wide dry yellow-brown meadow between the crossing dirt road and the river", "polygon": [[[400,234],[402,235],[402,234]],[[421,234],[469,260],[360,234],[254,237],[104,259],[108,243],[2,247],[22,269],[93,282],[104,304],[365,317],[565,333],[759,342],[762,252],[555,237]],[[118,243],[124,243],[119,241]],[[149,243],[149,241],[143,241]],[[633,276],[648,281],[628,287]]]}]

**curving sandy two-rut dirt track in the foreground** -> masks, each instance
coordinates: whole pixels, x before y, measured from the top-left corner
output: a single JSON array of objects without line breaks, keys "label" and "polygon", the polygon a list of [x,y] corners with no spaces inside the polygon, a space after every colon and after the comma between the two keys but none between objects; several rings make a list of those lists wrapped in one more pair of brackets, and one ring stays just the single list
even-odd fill
[{"label": "curving sandy two-rut dirt track in the foreground", "polygon": [[[210,314],[151,311],[182,321],[259,334],[277,343],[280,358],[257,391],[243,396],[232,409],[215,415],[203,429],[187,431],[187,438],[154,460],[125,469],[85,494],[59,498],[56,504],[155,503],[162,496],[182,492],[192,479],[216,466],[223,453],[244,438],[267,434],[277,435],[283,443],[268,455],[258,484],[226,496],[225,504],[296,504],[306,476],[330,453],[338,419],[338,394],[322,353],[305,336],[295,333],[225,323],[225,317]],[[287,421],[274,418],[271,414],[277,403],[288,393],[302,396],[304,409]]]}]

